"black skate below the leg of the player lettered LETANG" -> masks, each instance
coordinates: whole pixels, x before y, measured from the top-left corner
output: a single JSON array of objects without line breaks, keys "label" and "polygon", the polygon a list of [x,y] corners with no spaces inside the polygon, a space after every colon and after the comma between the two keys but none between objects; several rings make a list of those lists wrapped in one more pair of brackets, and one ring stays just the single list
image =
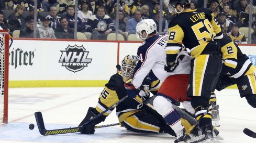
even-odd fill
[{"label": "black skate below the leg of the player lettered LETANG", "polygon": [[213,126],[212,124],[205,125],[201,128],[202,135],[193,139],[191,143],[215,143],[213,136]]}]

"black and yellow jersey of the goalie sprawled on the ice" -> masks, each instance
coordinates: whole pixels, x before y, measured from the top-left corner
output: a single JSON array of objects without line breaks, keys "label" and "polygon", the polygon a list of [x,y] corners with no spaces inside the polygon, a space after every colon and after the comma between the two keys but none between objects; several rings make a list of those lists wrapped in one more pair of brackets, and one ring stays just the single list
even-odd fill
[{"label": "black and yellow jersey of the goalie sprawled on the ice", "polygon": [[[150,95],[150,88],[153,88],[154,91],[158,90],[160,87],[160,81],[156,80],[154,82],[147,82],[144,80],[142,86],[139,88],[140,90],[144,90],[146,96],[139,96],[137,95],[136,98],[127,98],[123,102],[120,102],[119,105],[116,107],[116,115],[118,116],[119,122],[123,122],[128,116],[146,109],[143,107],[144,100],[149,98]],[[116,73],[110,77],[110,80],[105,85],[101,95],[99,95],[98,103],[96,106],[96,110],[101,113],[107,108],[113,106],[116,102],[118,102],[121,98],[127,95],[126,89],[124,87],[124,81],[119,73]],[[108,116],[112,111],[108,110],[104,113],[105,118]]]}]

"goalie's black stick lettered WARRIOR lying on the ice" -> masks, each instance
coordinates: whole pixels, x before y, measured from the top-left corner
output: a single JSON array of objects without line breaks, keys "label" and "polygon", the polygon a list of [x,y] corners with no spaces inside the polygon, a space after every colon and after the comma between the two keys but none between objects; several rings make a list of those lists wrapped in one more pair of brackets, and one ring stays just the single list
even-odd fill
[{"label": "goalie's black stick lettered WARRIOR lying on the ice", "polygon": [[[60,128],[60,129],[50,129],[50,130],[48,130],[44,126],[42,113],[41,112],[35,112],[35,117],[36,117],[39,132],[43,136],[80,132],[79,127],[70,127],[70,128]],[[119,125],[119,123],[95,126],[94,128],[103,128],[103,127],[116,126],[116,125]]]}]

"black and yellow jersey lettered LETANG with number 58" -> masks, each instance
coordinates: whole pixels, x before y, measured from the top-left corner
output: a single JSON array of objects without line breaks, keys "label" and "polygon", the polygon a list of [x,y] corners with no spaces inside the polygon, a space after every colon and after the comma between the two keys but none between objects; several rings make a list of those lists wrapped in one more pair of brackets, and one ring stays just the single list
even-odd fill
[{"label": "black and yellow jersey lettered LETANG with number 58", "polygon": [[206,8],[185,9],[169,23],[166,55],[171,57],[172,61],[175,60],[182,44],[191,50],[193,58],[210,54],[209,51],[218,50],[217,46],[213,45],[214,38],[222,38],[222,32],[212,11]]}]

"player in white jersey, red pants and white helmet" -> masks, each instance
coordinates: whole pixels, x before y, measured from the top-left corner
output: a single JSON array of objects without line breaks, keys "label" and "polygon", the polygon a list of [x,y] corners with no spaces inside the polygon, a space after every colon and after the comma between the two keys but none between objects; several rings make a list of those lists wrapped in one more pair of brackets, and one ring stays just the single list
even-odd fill
[{"label": "player in white jersey, red pants and white helmet", "polygon": [[137,89],[141,86],[143,79],[152,70],[155,76],[163,82],[157,97],[153,101],[155,110],[161,114],[174,130],[177,135],[175,142],[187,141],[190,136],[187,135],[179,113],[173,108],[172,102],[180,100],[186,110],[194,114],[194,109],[190,102],[187,102],[187,86],[190,74],[191,57],[186,51],[181,53],[179,66],[172,69],[172,72],[164,70],[165,65],[165,46],[168,40],[168,35],[155,35],[157,27],[152,19],[144,19],[137,24],[136,34],[144,40],[138,48],[137,55],[139,61],[133,72],[131,83],[125,83],[128,89],[128,95],[133,97],[137,95]]}]

